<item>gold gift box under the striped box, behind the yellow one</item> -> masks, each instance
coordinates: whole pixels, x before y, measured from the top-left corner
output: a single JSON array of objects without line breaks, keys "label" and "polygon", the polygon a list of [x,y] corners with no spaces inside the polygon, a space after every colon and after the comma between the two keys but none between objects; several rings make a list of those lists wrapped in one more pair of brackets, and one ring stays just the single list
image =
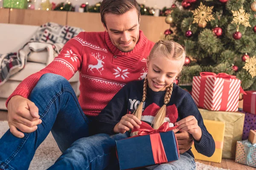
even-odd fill
[{"label": "gold gift box under the striped box, behind the yellow one", "polygon": [[235,159],[236,142],[242,140],[245,114],[229,111],[208,111],[201,108],[199,108],[199,111],[204,120],[214,120],[225,123],[222,158]]}]

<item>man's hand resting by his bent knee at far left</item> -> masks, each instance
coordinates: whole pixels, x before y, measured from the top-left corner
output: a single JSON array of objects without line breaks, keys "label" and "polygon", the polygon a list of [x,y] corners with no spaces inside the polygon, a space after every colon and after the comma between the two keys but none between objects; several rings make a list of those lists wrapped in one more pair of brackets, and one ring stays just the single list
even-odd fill
[{"label": "man's hand resting by his bent knee at far left", "polygon": [[[10,131],[18,138],[23,138],[24,133],[34,132],[37,130],[37,125],[42,122],[39,119],[38,107],[22,96],[13,96],[8,102],[7,109]],[[24,133],[18,131],[17,128]]]}]

